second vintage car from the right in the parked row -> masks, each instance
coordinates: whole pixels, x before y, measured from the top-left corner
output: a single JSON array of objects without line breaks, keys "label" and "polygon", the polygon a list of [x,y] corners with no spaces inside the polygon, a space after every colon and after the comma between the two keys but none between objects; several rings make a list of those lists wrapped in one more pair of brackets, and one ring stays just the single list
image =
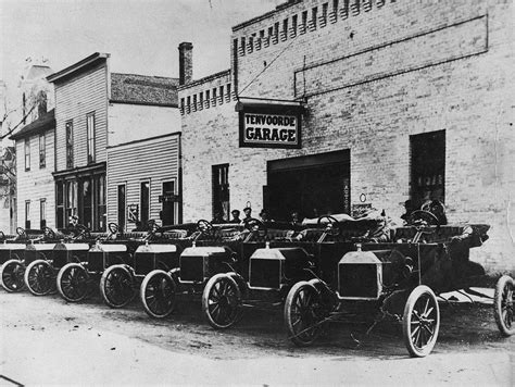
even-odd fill
[{"label": "second vintage car from the right in the parked row", "polygon": [[[321,220],[322,221],[322,220]],[[241,316],[241,305],[284,302],[288,290],[316,271],[316,249],[335,240],[337,229],[318,222],[313,227],[260,224],[241,244],[236,270],[213,276],[202,294],[203,313],[214,328],[228,328]]]}]

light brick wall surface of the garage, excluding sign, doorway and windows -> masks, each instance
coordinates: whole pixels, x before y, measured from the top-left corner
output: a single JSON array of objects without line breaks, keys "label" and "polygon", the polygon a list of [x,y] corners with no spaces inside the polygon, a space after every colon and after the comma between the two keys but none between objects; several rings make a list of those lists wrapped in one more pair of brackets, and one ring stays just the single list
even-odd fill
[{"label": "light brick wall surface of the garage, excluding sign, doorway and windows", "polygon": [[409,136],[444,129],[448,217],[490,224],[490,240],[472,257],[490,272],[513,271],[512,2],[350,1],[346,13],[340,0],[336,12],[327,2],[324,21],[325,3],[303,1],[234,28],[239,96],[305,99],[303,147],[238,148],[237,113],[227,105],[186,114],[185,220],[211,214],[212,164],[229,163],[231,208],[249,200],[259,210],[266,161],[340,149],[351,150],[351,201],[365,194],[400,215]]}]

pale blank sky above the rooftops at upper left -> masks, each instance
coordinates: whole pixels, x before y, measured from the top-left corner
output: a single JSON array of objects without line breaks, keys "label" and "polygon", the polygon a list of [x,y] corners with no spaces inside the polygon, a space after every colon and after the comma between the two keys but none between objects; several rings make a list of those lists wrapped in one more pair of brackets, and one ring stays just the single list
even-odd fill
[{"label": "pale blank sky above the rooftops at upper left", "polygon": [[181,41],[193,78],[229,67],[231,27],[286,0],[0,0],[0,79],[13,87],[25,59],[60,71],[93,52],[111,71],[178,77]]}]

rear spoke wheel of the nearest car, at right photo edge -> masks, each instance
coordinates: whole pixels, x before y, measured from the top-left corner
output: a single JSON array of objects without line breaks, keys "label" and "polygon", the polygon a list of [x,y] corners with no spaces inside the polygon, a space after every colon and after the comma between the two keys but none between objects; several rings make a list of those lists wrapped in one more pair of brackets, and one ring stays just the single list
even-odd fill
[{"label": "rear spoke wheel of the nearest car, at right photo edge", "polygon": [[515,334],[515,324],[513,322],[513,289],[514,280],[508,275],[499,278],[495,285],[493,296],[493,315],[499,330],[503,336]]}]

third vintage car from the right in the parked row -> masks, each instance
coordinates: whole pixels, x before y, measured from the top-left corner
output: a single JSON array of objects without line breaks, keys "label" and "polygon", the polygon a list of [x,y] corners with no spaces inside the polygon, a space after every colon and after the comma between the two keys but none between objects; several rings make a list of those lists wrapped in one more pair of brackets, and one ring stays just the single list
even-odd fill
[{"label": "third vintage car from the right in the parked row", "polygon": [[242,241],[252,234],[253,223],[212,225],[198,222],[199,234],[186,247],[175,265],[168,270],[155,269],[141,283],[140,298],[151,317],[162,319],[175,308],[176,295],[200,295],[205,284],[219,273],[233,272]]}]

